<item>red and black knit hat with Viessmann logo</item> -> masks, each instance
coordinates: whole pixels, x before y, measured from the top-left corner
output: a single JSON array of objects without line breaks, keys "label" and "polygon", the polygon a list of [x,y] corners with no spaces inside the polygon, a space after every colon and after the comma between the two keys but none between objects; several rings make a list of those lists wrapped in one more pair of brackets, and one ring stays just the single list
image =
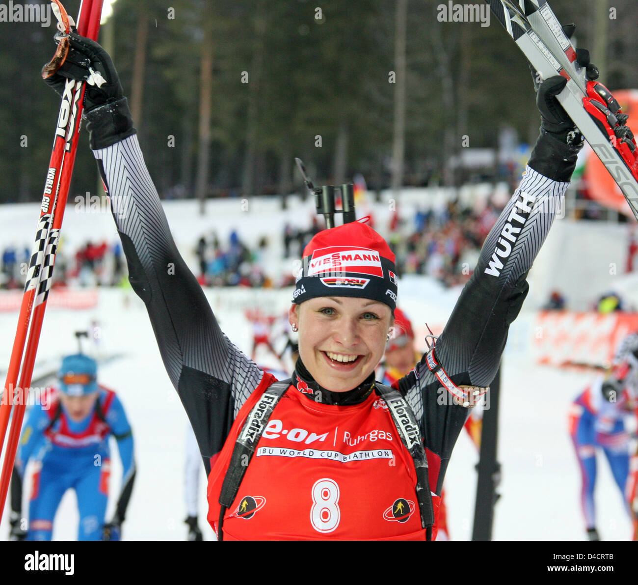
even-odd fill
[{"label": "red and black knit hat with Viessmann logo", "polygon": [[357,222],[320,231],[304,248],[293,303],[318,296],[354,296],[396,307],[394,254],[369,225]]}]

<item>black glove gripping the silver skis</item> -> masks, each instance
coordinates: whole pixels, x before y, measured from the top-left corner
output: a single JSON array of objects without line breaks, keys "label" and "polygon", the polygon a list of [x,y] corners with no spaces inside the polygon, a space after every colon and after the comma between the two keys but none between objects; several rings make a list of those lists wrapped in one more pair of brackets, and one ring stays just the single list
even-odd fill
[{"label": "black glove gripping the silver skis", "polygon": [[[571,38],[575,26],[566,24],[563,31]],[[598,68],[590,62],[587,49],[576,49],[576,62],[586,69],[587,79],[597,79]],[[528,165],[554,181],[568,182],[572,178],[578,153],[583,144],[582,134],[560,105],[556,96],[565,89],[567,79],[554,75],[540,80],[530,65],[536,103],[540,111],[540,136],[534,146]]]}]

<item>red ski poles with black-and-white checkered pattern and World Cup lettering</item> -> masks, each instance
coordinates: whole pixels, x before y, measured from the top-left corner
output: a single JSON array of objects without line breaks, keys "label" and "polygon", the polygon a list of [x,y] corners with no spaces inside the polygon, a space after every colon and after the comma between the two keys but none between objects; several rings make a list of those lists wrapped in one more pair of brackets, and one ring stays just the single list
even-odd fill
[{"label": "red ski poles with black-and-white checkered pattern and World Cup lettering", "polygon": [[[52,0],[61,14],[61,23],[66,33],[70,31],[70,22],[64,7],[59,0]],[[100,17],[103,0],[82,0],[78,15],[78,33],[97,40],[100,29]],[[60,43],[56,56],[48,67],[55,71],[64,63],[68,42]],[[4,510],[4,501],[9,487],[11,471],[22,428],[24,409],[26,406],[26,388],[31,384],[33,365],[44,312],[47,304],[48,290],[51,284],[53,267],[56,259],[57,241],[64,217],[64,208],[75,162],[78,144],[78,132],[82,114],[82,100],[84,98],[84,83],[68,80],[64,89],[63,100],[58,116],[56,137],[51,155],[47,181],[42,198],[40,220],[36,231],[29,273],[20,307],[20,316],[16,331],[10,365],[4,384],[4,400],[0,405],[0,450],[4,443],[4,436],[11,414],[11,407],[15,403],[15,411],[11,420],[9,440],[4,453],[4,464],[0,475],[0,520]],[[31,314],[33,312],[33,320]],[[31,321],[31,323],[29,323]],[[29,324],[31,327],[29,328]],[[27,335],[28,333],[28,335]],[[27,340],[28,339],[28,340]],[[22,354],[27,346],[24,362]],[[20,383],[16,385],[18,373],[22,365]]]}]

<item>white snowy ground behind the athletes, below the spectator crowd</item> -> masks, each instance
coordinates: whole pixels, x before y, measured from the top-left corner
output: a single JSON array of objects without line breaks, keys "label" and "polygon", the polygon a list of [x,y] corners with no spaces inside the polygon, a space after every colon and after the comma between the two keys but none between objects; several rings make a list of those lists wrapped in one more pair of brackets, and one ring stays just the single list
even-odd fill
[{"label": "white snowy ground behind the athletes, below the spectator crowd", "polygon": [[[426,283],[419,288],[425,287]],[[416,288],[416,282],[406,286],[408,290]],[[287,291],[262,292],[260,304],[273,312],[283,310],[290,298]],[[250,338],[242,307],[255,302],[253,292],[237,289],[209,292],[209,300],[217,314],[223,315],[223,329],[246,351]],[[416,299],[404,301],[413,307]],[[449,307],[447,299],[439,307],[428,303],[424,312],[438,312],[436,319],[428,317],[429,321],[444,322]],[[414,309],[408,311],[413,314]],[[535,366],[524,339],[532,317],[521,315],[515,323],[503,361],[499,443],[503,480],[496,506],[494,539],[583,540],[579,470],[567,434],[567,412],[570,400],[591,376]],[[89,326],[93,319],[101,325],[100,351],[126,355],[104,365],[100,372],[101,382],[121,395],[135,432],[138,476],[124,524],[124,538],[182,540],[186,535],[182,522],[186,517],[182,486],[186,416],[161,365],[141,301],[131,291],[102,289],[96,310],[49,310],[39,356],[55,358],[61,351],[73,351],[73,331]],[[0,356],[10,353],[16,320],[14,313],[0,313]],[[4,367],[4,363],[0,365]],[[471,535],[476,460],[475,448],[468,437],[461,436],[446,480],[450,533],[454,540],[468,540]],[[114,478],[119,478],[117,457],[114,462]],[[204,521],[203,473],[200,483],[200,525],[205,538],[211,539],[212,531]],[[597,504],[602,538],[627,540],[630,522],[602,460]],[[0,526],[1,538],[8,533],[7,515]],[[76,533],[75,496],[68,492],[59,508],[54,538],[73,539]]]}]

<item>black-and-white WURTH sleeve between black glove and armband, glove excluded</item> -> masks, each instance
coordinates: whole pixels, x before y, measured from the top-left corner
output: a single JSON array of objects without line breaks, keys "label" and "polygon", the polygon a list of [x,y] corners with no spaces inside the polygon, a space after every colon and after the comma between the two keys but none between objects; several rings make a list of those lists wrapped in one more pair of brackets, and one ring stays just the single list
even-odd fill
[{"label": "black-and-white WURTH sleeve between black glove and armband, glove excluded", "polygon": [[489,386],[510,324],[527,296],[526,276],[556,215],[567,182],[526,168],[489,232],[479,262],[436,343],[436,357],[463,384]]}]

